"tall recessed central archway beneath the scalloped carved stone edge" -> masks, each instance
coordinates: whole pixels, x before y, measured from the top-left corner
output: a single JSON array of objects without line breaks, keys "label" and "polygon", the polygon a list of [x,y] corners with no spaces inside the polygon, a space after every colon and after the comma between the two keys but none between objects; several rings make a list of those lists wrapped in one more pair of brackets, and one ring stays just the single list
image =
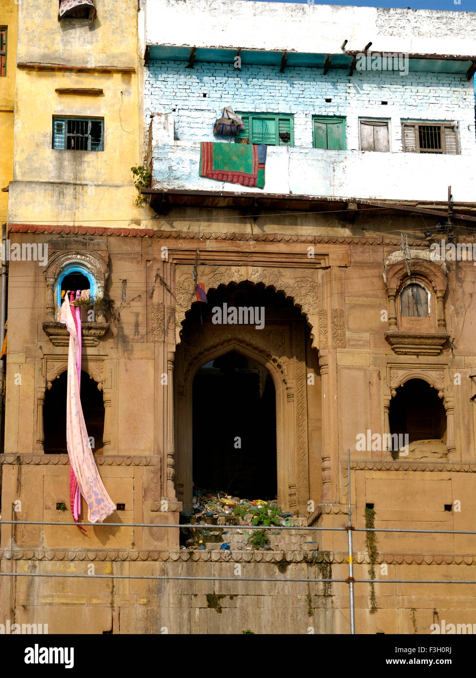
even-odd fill
[{"label": "tall recessed central archway beneath the scalloped carved stone edge", "polygon": [[[224,306],[225,304],[225,306]],[[230,312],[231,308],[257,308],[263,309],[263,323],[240,323],[230,322],[233,318],[225,317],[217,321],[216,309],[221,308],[223,313]],[[258,313],[259,315],[259,313]],[[237,313],[236,318],[244,318],[245,315]],[[261,327],[257,327],[261,324]],[[226,356],[235,353],[241,357],[242,365],[248,367],[228,370],[227,374],[221,374],[222,383],[220,388],[227,394],[227,403],[218,407],[208,407],[208,403],[198,401],[197,394],[194,398],[194,384],[200,382],[208,365],[208,369],[214,369],[215,361],[226,363],[230,358]],[[235,360],[237,360],[235,358]],[[240,359],[238,359],[239,361]],[[249,367],[251,365],[251,367]],[[242,370],[251,369],[253,378],[244,378]],[[222,372],[223,370],[220,370]],[[218,373],[217,373],[218,374]],[[240,374],[240,393],[230,396],[230,389],[234,388],[236,375]],[[275,439],[267,447],[268,476],[276,477],[276,494],[278,504],[283,509],[293,513],[306,513],[307,502],[310,494],[316,496],[316,486],[321,483],[320,460],[321,460],[321,384],[318,375],[317,355],[312,349],[310,330],[306,318],[301,314],[293,301],[285,298],[284,294],[275,292],[271,287],[254,285],[244,282],[238,285],[219,285],[216,290],[208,290],[207,302],[196,302],[191,305],[183,323],[181,343],[177,346],[175,356],[175,482],[177,499],[183,502],[184,509],[191,508],[192,486],[198,484],[210,487],[214,490],[225,490],[225,487],[213,487],[216,482],[214,472],[210,471],[210,480],[206,481],[206,464],[208,467],[219,456],[218,441],[211,442],[212,432],[215,430],[215,420],[223,416],[223,412],[230,410],[230,433],[234,426],[240,426],[239,403],[253,402],[256,397],[255,388],[257,380],[268,380],[268,405],[261,403],[261,426],[268,432],[273,427]],[[211,378],[211,375],[208,374]],[[211,388],[208,386],[208,388]],[[196,391],[196,388],[195,388]],[[270,393],[274,391],[274,412],[270,414]],[[210,391],[208,391],[210,393]],[[263,392],[264,393],[264,392]],[[203,395],[203,394],[202,394]],[[209,397],[210,400],[214,398]],[[255,409],[258,408],[257,400]],[[218,408],[218,410],[217,410]],[[249,412],[248,407],[243,410]],[[197,424],[198,420],[201,424]],[[194,431],[195,424],[195,431]],[[209,434],[206,433],[207,427]],[[223,431],[225,428],[215,426]],[[251,422],[247,421],[244,426],[246,431],[251,431]],[[195,433],[195,437],[194,437]],[[206,445],[210,440],[210,453],[206,456]],[[249,435],[249,433],[246,433]],[[270,434],[268,433],[268,436]],[[240,437],[240,433],[233,438]],[[228,444],[228,443],[227,443]],[[258,442],[259,445],[259,442]],[[211,450],[211,447],[214,450]],[[216,450],[215,450],[216,447]],[[274,449],[274,460],[269,461],[270,447]],[[256,454],[256,445],[254,452]],[[200,452],[201,450],[201,452]],[[194,454],[204,457],[202,462],[195,461]],[[246,461],[242,458],[243,463]],[[220,462],[223,466],[223,463]],[[261,471],[258,470],[257,474]],[[318,469],[310,483],[310,466]],[[196,479],[194,473],[199,473]],[[270,477],[263,480],[259,486],[259,478],[253,484],[247,473],[242,469],[240,473],[239,460],[235,464],[234,482],[241,484],[244,492],[253,492],[257,496],[246,498],[268,498],[260,496],[263,492],[270,494],[272,483]],[[216,475],[216,474],[215,474]],[[232,479],[226,474],[223,481],[230,482]],[[262,478],[262,474],[261,474]],[[257,481],[256,481],[257,480]],[[312,485],[312,489],[311,489]],[[236,490],[238,487],[236,487]],[[259,490],[261,489],[261,492]],[[270,497],[274,498],[274,497]],[[318,501],[316,502],[318,503]]]}]

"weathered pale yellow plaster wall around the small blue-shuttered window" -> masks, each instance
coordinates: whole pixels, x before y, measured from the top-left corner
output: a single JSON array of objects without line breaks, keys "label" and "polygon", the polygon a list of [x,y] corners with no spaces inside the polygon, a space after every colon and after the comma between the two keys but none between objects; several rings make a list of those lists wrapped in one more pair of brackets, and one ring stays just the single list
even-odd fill
[{"label": "weathered pale yellow plaster wall around the small blue-shuttered window", "polygon": [[[10,222],[84,226],[137,226],[130,167],[141,162],[139,58],[135,0],[98,0],[98,18],[58,22],[56,2],[20,5],[14,184]],[[33,39],[33,33],[35,39]],[[132,67],[134,73],[37,70],[25,63]],[[58,94],[56,89],[103,89],[100,96]],[[104,118],[104,151],[52,148],[52,120]]]}]

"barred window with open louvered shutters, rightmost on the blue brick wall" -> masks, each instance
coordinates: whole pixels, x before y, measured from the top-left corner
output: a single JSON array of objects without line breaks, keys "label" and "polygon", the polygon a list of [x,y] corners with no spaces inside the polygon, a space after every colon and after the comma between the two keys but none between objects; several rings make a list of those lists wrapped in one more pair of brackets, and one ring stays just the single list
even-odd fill
[{"label": "barred window with open louvered shutters, rightmost on the blue brick wall", "polygon": [[456,125],[441,123],[402,123],[405,153],[444,153],[458,155]]}]

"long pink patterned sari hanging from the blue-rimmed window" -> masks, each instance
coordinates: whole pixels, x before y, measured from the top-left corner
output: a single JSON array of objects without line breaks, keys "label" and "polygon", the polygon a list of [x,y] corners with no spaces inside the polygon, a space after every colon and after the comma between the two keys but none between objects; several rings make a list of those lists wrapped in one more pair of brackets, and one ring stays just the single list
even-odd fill
[{"label": "long pink patterned sari hanging from the blue-rimmed window", "polygon": [[79,307],[70,306],[73,301],[74,294],[71,294],[71,301],[65,295],[60,314],[60,322],[66,324],[69,332],[66,437],[71,462],[71,509],[73,518],[77,521],[80,513],[79,492],[81,492],[88,504],[88,520],[90,523],[97,523],[103,521],[115,511],[115,504],[107,494],[103,481],[100,479],[84,423],[83,409],[79,397],[81,317],[79,313],[76,313],[76,311],[80,311]]}]

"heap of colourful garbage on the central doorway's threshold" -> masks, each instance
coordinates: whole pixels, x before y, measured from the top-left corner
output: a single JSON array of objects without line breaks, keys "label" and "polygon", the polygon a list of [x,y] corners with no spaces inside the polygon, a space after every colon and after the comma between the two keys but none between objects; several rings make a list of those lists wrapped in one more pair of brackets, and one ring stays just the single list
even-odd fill
[{"label": "heap of colourful garbage on the central doorway's threshold", "polygon": [[293,527],[289,519],[292,513],[285,513],[278,507],[276,499],[240,499],[226,492],[213,492],[194,485],[193,511],[183,511],[183,516],[196,518],[240,517],[245,525],[281,525]]}]

